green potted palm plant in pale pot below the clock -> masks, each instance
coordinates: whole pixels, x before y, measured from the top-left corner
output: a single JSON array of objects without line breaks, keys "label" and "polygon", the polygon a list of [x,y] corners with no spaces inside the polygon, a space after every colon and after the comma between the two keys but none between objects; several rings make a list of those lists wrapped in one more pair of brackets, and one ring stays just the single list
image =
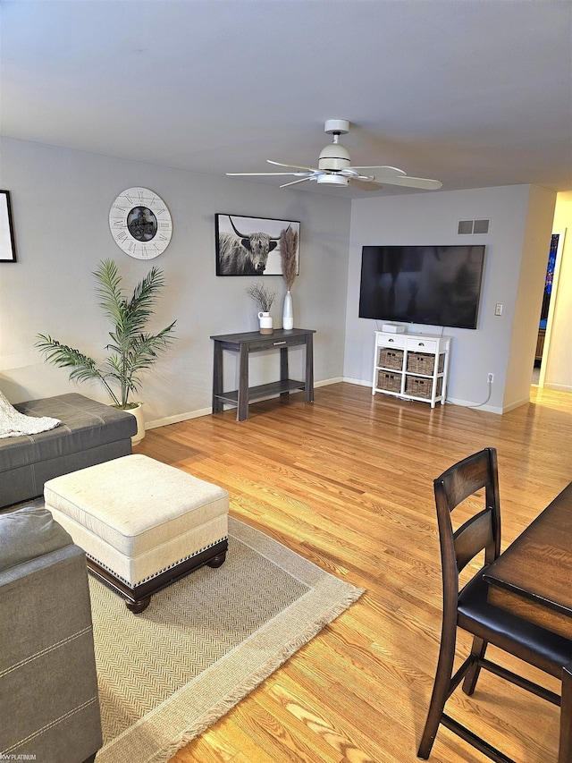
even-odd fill
[{"label": "green potted palm plant in pale pot below the clock", "polygon": [[132,402],[130,396],[141,386],[139,374],[153,366],[159,352],[164,352],[172,343],[176,321],[157,334],[148,334],[145,330],[164,287],[163,273],[157,267],[152,267],[137,284],[130,299],[124,294],[122,276],[118,274],[113,260],[100,262],[93,275],[98,284],[97,294],[101,298],[99,305],[114,325],[109,332],[111,342],[105,346],[105,350],[110,352],[105,361],[97,365],[96,360],[49,335],[38,334],[36,347],[44,354],[46,362],[59,368],[70,368],[70,379],[100,381],[116,408],[133,413],[138,420],[138,434],[132,442],[137,445],[145,437],[141,411],[143,403]]}]

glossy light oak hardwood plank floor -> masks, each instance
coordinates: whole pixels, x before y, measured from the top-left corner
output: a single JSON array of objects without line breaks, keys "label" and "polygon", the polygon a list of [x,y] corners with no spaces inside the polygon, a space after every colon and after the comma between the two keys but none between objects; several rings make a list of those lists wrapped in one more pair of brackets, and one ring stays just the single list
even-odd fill
[{"label": "glossy light oak hardwood plank floor", "polygon": [[[572,479],[572,394],[532,395],[499,416],[342,383],[313,404],[257,403],[240,423],[229,410],[147,432],[135,452],[225,487],[232,516],[366,589],[172,763],[416,760],[441,628],[433,478],[498,448],[506,547]],[[458,640],[459,655],[467,646]],[[556,760],[559,709],[526,691],[482,674],[448,708],[517,763]],[[430,760],[485,758],[441,728]]]}]

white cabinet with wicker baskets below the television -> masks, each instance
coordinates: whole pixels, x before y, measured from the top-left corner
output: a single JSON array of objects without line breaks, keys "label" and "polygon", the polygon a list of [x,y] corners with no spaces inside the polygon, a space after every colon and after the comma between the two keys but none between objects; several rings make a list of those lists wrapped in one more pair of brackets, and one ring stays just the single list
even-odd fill
[{"label": "white cabinet with wicker baskets below the television", "polygon": [[450,336],[375,332],[372,394],[445,403]]}]

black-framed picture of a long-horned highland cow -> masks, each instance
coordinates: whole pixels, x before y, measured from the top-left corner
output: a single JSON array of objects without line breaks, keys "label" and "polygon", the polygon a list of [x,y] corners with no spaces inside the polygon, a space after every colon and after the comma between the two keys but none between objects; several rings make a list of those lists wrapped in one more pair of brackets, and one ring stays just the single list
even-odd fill
[{"label": "black-framed picture of a long-horned highland cow", "polygon": [[214,226],[217,276],[282,276],[281,234],[289,228],[299,275],[299,222],[216,214]]}]

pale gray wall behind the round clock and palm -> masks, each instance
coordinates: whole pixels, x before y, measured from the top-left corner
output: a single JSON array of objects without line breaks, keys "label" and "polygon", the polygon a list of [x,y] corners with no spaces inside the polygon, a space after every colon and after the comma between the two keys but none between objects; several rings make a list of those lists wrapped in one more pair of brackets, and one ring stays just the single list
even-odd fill
[{"label": "pale gray wall behind the round clock and palm", "polygon": [[[144,377],[146,420],[158,423],[210,410],[211,335],[257,329],[246,287],[256,277],[215,276],[214,214],[300,221],[300,275],[293,289],[295,325],[314,328],[315,380],[339,379],[343,366],[350,202],[193,174],[21,140],[0,139],[0,186],[11,191],[18,262],[0,265],[0,389],[13,402],[77,391],[108,402],[98,386],[73,386],[34,348],[50,334],[102,360],[109,326],[91,275],[101,259],[118,263],[129,290],[151,267],[114,243],[109,209],[131,186],[156,191],[171,211],[172,241],[152,264],[164,271],[159,329],[177,319],[177,341]],[[274,326],[282,325],[282,276],[265,276],[278,292]],[[301,377],[303,351],[290,374]],[[235,374],[233,358],[227,375]],[[253,381],[273,381],[278,356],[253,362]]]}]

